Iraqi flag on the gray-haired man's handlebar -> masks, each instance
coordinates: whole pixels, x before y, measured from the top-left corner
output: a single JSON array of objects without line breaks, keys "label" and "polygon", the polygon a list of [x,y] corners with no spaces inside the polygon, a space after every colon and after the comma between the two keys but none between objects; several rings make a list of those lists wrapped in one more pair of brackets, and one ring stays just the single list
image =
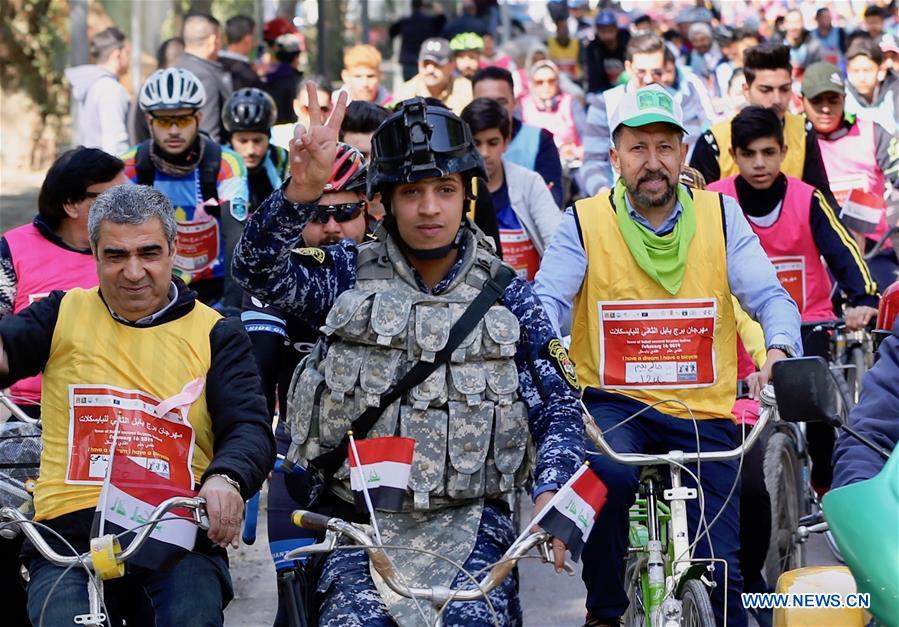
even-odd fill
[{"label": "Iraqi flag on the gray-haired man's handlebar", "polygon": [[[111,460],[112,467],[94,514],[92,537],[124,533],[119,542],[126,547],[135,535],[129,530],[140,531],[157,505],[173,496],[197,495],[196,491],[169,479],[167,462],[118,454],[113,454]],[[128,563],[152,570],[173,566],[194,548],[197,526],[192,520],[193,515],[187,509],[174,509],[166,514]]]}]

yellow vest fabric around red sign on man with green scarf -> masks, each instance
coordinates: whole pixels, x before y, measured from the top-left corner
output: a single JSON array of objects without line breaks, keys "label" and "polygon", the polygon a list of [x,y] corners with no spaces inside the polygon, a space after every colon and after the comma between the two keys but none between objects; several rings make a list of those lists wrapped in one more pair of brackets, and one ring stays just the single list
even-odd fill
[{"label": "yellow vest fabric around red sign on man with green scarf", "polygon": [[[609,391],[647,405],[675,399],[686,403],[693,415],[700,419],[729,417],[736,395],[737,340],[727,279],[721,196],[714,192],[691,191],[696,208],[696,233],[688,250],[681,288],[674,296],[653,281],[634,260],[621,236],[610,194],[575,204],[587,255],[587,274],[574,301],[570,354],[581,384],[599,388],[600,365],[604,359],[621,358],[620,355],[603,355],[600,303],[714,300],[717,307],[711,353],[714,381],[696,387],[675,384]],[[682,405],[674,403],[661,405],[659,411],[678,418],[690,417]]]}]

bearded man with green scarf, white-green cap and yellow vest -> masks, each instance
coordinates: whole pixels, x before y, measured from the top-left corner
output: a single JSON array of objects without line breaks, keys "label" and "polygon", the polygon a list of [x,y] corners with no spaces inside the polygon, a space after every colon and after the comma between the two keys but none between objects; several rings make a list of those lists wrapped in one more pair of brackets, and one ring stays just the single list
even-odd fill
[{"label": "bearded man with green scarf, white-green cap and yellow vest", "polygon": [[[731,295],[765,330],[762,384],[774,362],[801,350],[799,311],[736,201],[678,184],[687,148],[677,102],[662,88],[645,87],[625,94],[610,122],[618,182],[566,211],[535,289],[557,331],[570,321],[584,402],[613,448],[733,448]],[[586,624],[617,625],[628,605],[622,564],[639,469],[598,456],[591,463],[609,497],[584,550]],[[701,473],[705,518],[717,520],[695,557],[727,560],[727,599],[719,566],[712,603],[719,624],[726,603],[727,624],[742,626],[737,466],[720,462]],[[693,539],[699,516],[699,500],[689,501]]]}]

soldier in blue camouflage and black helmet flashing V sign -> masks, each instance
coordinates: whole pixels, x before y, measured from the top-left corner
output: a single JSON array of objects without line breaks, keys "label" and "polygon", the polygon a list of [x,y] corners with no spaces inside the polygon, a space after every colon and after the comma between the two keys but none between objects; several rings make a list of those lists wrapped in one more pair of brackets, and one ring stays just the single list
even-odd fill
[{"label": "soldier in blue camouflage and black helmet flashing V sign", "polygon": [[[249,293],[325,332],[288,399],[292,452],[301,460],[345,446],[350,424],[416,363],[435,355],[440,363],[462,312],[508,272],[466,217],[485,178],[470,130],[420,98],[401,103],[373,137],[368,194],[380,192],[387,211],[375,240],[292,254],[331,172],[345,100],[341,94],[323,123],[309,87],[310,126],[291,141],[291,177],[250,218],[233,265]],[[383,542],[437,551],[473,573],[514,541],[508,497],[528,475],[542,508],[584,456],[577,378],[538,299],[519,278],[497,293],[451,358],[386,406],[367,434],[416,440],[402,511],[376,512]],[[316,508],[347,518],[352,501],[344,462]],[[552,549],[560,571],[566,547],[554,538]],[[414,551],[392,559],[411,585],[467,581]],[[361,550],[329,555],[317,592],[321,625],[405,625],[430,611],[373,580]],[[450,603],[445,624],[521,624],[515,577],[490,602],[495,617],[483,600]]]}]

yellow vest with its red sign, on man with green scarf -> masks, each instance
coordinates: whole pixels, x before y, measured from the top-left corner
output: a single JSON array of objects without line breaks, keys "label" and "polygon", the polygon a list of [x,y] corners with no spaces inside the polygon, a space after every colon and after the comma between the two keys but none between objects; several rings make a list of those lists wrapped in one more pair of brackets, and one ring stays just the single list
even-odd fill
[{"label": "yellow vest with its red sign, on man with green scarf", "polygon": [[[737,360],[721,197],[692,194],[696,233],[673,296],[637,264],[609,194],[575,204],[587,273],[574,301],[571,358],[582,385],[647,405],[674,399],[696,418],[722,418],[734,403]],[[690,417],[680,404],[658,409]]]}]

